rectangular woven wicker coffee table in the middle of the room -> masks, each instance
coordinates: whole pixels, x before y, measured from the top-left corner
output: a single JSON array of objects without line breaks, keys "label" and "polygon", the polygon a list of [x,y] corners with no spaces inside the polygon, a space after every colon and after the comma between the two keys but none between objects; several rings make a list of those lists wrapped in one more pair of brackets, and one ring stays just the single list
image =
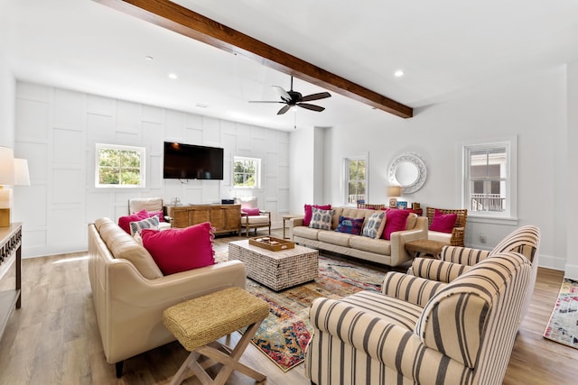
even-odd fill
[{"label": "rectangular woven wicker coffee table in the middle of the room", "polygon": [[271,252],[248,240],[228,243],[228,260],[245,262],[247,277],[275,291],[291,288],[319,275],[319,252],[295,244],[294,249]]}]

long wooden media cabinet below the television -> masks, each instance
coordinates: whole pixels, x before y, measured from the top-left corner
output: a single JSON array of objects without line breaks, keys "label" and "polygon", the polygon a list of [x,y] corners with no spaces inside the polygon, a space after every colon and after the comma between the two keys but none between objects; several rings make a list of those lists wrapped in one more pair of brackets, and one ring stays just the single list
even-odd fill
[{"label": "long wooden media cabinet below the television", "polygon": [[215,234],[240,235],[241,205],[188,205],[164,206],[166,215],[172,217],[174,227],[188,227],[210,222]]}]

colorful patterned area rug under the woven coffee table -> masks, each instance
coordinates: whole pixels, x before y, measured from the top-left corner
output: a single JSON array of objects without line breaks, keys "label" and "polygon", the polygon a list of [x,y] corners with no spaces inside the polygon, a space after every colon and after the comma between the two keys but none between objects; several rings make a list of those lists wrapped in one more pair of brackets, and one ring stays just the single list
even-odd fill
[{"label": "colorful patterned area rug under the woven coffee table", "polygon": [[365,289],[380,291],[384,275],[384,271],[320,256],[319,277],[294,288],[275,292],[247,280],[247,291],[265,299],[270,307],[253,344],[282,371],[294,368],[305,359],[305,347],[311,339],[309,307],[313,299],[343,298]]}]

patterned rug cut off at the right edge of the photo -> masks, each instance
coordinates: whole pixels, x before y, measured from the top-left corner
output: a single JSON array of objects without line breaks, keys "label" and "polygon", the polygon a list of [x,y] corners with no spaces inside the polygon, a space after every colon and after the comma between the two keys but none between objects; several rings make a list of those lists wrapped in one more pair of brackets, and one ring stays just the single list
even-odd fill
[{"label": "patterned rug cut off at the right edge of the photo", "polygon": [[578,280],[564,278],[544,336],[578,349]]}]

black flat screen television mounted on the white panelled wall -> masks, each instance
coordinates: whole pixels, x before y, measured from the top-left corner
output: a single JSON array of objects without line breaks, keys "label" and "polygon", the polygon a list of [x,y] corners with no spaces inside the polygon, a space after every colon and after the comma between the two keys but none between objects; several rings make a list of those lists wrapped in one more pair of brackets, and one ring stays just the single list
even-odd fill
[{"label": "black flat screen television mounted on the white panelled wall", "polygon": [[164,142],[163,179],[223,179],[223,149]]}]

